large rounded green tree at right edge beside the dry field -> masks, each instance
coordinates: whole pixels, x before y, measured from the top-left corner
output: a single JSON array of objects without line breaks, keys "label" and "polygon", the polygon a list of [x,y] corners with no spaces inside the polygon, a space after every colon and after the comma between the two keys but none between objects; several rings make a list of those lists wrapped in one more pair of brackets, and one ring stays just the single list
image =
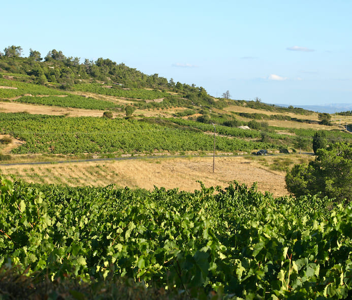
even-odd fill
[{"label": "large rounded green tree at right edge beside the dry field", "polygon": [[317,157],[297,164],[286,175],[287,190],[296,196],[321,193],[341,202],[352,200],[352,149],[350,144],[330,144]]}]

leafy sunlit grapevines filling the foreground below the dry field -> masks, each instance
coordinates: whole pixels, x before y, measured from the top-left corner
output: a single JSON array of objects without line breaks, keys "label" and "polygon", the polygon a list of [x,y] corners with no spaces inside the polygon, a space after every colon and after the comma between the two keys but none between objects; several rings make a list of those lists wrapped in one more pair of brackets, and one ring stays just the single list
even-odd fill
[{"label": "leafy sunlit grapevines filling the foreground below the dry field", "polygon": [[3,179],[0,212],[0,264],[36,276],[131,278],[188,296],[352,295],[352,210],[326,198],[236,182],[189,193]]}]

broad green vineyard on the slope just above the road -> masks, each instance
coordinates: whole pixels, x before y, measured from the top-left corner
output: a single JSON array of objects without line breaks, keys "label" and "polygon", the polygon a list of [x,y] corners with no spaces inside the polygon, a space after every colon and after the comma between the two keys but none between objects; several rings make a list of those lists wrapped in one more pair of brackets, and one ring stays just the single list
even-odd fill
[{"label": "broad green vineyard on the slope just above the road", "polygon": [[[25,141],[13,153],[134,153],[211,151],[213,137],[194,128],[165,127],[148,121],[93,117],[65,118],[0,113],[1,134]],[[109,129],[107,129],[109,128]],[[243,130],[243,129],[242,129]],[[243,130],[245,131],[245,130]],[[220,151],[251,151],[275,145],[218,137]]]}]

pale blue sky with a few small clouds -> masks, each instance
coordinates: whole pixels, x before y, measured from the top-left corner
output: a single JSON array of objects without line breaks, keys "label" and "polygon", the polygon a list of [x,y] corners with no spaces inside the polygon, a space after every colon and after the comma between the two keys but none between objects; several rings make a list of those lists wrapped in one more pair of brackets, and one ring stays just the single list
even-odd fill
[{"label": "pale blue sky with a few small clouds", "polygon": [[109,58],[215,97],[352,103],[351,0],[6,1],[0,51]]}]

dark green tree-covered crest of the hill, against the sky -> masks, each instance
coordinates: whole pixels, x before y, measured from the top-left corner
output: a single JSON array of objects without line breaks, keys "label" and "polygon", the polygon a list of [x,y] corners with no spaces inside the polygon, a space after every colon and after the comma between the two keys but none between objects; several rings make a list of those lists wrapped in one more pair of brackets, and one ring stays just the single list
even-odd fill
[{"label": "dark green tree-covered crest of the hill, against the sky", "polygon": [[[28,57],[21,57],[22,48],[11,46],[0,53],[0,72],[28,75],[29,79],[39,84],[52,84],[63,89],[69,89],[74,84],[89,82],[89,80],[114,84],[115,88],[152,88],[167,89],[181,93],[200,93],[208,96],[203,87],[195,84],[174,82],[158,74],[145,75],[142,72],[116,63],[109,58],[98,58],[96,61],[80,57],[65,56],[55,49],[42,58],[39,51],[30,49]],[[28,79],[27,79],[28,80]],[[209,97],[210,98],[210,97]]]}]

